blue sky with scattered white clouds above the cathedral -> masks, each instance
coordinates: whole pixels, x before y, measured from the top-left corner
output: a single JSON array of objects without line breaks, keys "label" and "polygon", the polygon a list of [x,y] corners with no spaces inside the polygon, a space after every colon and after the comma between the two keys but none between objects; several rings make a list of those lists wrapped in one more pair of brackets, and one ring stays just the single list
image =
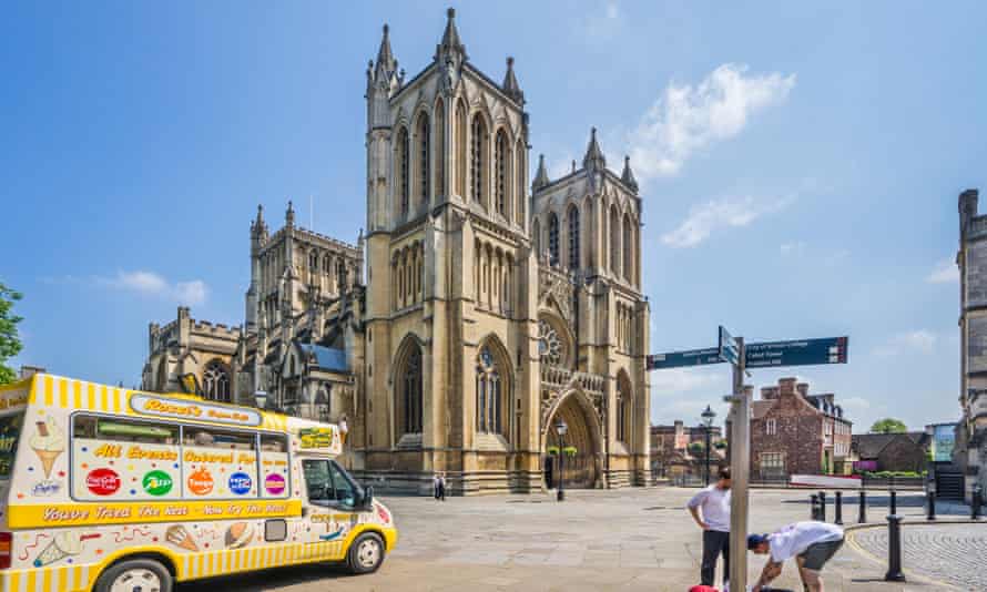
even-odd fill
[{"label": "blue sky with scattered white clouds above the cathedral", "polygon": [[[859,6],[866,4],[866,6]],[[365,69],[380,25],[413,75],[447,3],[14,2],[0,21],[0,280],[24,351],[140,380],[147,323],[236,325],[256,204],[364,225]],[[471,61],[505,58],[532,162],[596,125],[642,182],[652,351],[849,335],[849,364],[755,371],[834,391],[856,429],[958,417],[957,194],[987,187],[976,2],[466,2]],[[725,367],[652,374],[695,421]],[[718,406],[721,418],[725,409]]]}]

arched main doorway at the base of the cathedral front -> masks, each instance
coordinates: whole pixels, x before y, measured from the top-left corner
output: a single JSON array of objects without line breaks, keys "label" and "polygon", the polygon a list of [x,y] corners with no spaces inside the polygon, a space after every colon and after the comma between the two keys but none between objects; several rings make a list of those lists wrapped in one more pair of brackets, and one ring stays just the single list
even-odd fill
[{"label": "arched main doorway at the base of the cathedral front", "polygon": [[[542,468],[546,487],[558,487],[559,458],[562,453],[562,479],[570,489],[596,488],[600,479],[600,421],[589,397],[571,390],[559,398],[542,428]],[[566,422],[566,436],[559,447],[556,423]],[[554,453],[552,453],[554,452]]]}]

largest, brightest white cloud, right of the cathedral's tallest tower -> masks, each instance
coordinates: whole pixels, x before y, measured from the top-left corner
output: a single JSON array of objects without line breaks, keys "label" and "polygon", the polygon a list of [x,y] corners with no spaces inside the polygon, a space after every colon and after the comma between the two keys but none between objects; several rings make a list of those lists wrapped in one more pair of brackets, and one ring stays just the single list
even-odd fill
[{"label": "largest, brightest white cloud, right of the cathedral's tallest tower", "polygon": [[670,83],[638,126],[628,134],[639,182],[674,175],[696,152],[739,134],[754,113],[780,104],[795,74],[747,74],[744,64],[725,63],[695,86]]}]

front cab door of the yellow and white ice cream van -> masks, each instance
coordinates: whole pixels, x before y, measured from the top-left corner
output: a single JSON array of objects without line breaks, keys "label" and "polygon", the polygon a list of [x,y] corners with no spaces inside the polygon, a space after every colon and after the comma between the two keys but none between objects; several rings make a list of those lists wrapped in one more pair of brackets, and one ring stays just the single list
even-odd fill
[{"label": "front cab door of the yellow and white ice cream van", "polygon": [[[335,461],[327,459],[302,460],[305,490],[308,498],[306,513],[313,521],[323,542],[338,542],[359,523],[355,509],[362,491]],[[339,545],[337,559],[346,550]]]}]

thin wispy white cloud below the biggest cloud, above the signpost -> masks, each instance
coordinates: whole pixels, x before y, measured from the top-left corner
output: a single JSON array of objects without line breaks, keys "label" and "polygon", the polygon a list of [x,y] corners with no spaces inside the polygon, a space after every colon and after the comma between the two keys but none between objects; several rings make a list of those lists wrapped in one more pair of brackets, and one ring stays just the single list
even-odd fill
[{"label": "thin wispy white cloud below the biggest cloud, above the signpost", "polygon": [[726,197],[694,205],[678,228],[662,235],[661,242],[674,248],[693,247],[709,238],[714,231],[746,226],[763,215],[784,208],[794,198]]}]

